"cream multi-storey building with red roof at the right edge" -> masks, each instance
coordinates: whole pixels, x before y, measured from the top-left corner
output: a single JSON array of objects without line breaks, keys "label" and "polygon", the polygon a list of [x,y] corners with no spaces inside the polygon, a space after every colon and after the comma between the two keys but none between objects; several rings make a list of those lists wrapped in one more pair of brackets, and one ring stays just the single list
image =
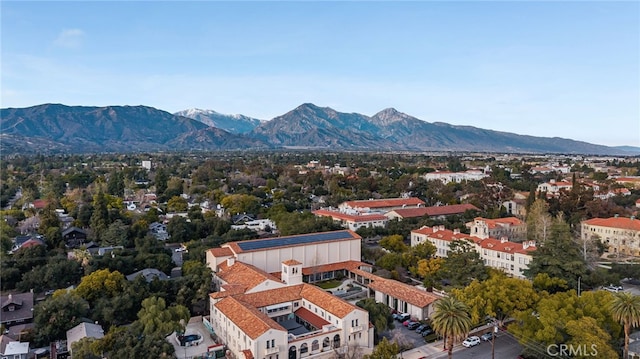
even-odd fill
[{"label": "cream multi-storey building with red roof at the right edge", "polygon": [[616,216],[583,221],[582,239],[600,240],[609,254],[640,256],[640,219]]}]

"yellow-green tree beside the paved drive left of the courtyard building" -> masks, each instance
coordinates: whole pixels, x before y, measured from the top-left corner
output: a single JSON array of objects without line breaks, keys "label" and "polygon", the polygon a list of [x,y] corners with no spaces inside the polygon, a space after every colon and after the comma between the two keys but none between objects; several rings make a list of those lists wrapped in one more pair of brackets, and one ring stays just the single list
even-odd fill
[{"label": "yellow-green tree beside the paved drive left of the courtyard building", "polygon": [[145,335],[166,337],[174,331],[184,331],[183,323],[189,321],[189,316],[189,310],[182,305],[167,307],[163,298],[150,297],[142,301],[137,322]]}]

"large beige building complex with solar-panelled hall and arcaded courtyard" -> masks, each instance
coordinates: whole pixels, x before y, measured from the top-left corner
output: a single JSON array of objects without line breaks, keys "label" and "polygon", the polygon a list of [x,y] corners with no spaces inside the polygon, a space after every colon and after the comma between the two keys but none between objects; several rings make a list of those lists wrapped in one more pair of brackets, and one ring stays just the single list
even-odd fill
[{"label": "large beige building complex with solar-panelled hall and arcaded courtyard", "polygon": [[368,312],[308,282],[337,276],[367,297],[425,319],[433,293],[378,277],[352,231],[240,241],[207,251],[216,291],[205,325],[238,359],[329,358],[373,348]]}]

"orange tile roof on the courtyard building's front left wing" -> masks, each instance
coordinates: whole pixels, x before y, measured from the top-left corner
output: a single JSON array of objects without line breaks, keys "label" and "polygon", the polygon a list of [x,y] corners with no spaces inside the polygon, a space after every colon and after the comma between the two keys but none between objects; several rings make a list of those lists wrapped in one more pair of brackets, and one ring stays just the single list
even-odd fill
[{"label": "orange tile roof on the courtyard building's front left wing", "polygon": [[214,306],[251,339],[257,339],[270,329],[287,331],[280,324],[269,318],[268,315],[233,297],[226,297],[214,304]]}]

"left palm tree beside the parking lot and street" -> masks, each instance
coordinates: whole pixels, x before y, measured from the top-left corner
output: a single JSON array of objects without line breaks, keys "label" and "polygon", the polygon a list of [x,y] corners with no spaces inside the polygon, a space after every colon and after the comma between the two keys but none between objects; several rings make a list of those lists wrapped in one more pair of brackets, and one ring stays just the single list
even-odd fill
[{"label": "left palm tree beside the parking lot and street", "polygon": [[464,339],[471,328],[469,308],[454,297],[439,299],[434,304],[431,326],[433,330],[445,338],[445,344],[448,344],[449,349],[449,359],[451,359],[454,342]]}]

